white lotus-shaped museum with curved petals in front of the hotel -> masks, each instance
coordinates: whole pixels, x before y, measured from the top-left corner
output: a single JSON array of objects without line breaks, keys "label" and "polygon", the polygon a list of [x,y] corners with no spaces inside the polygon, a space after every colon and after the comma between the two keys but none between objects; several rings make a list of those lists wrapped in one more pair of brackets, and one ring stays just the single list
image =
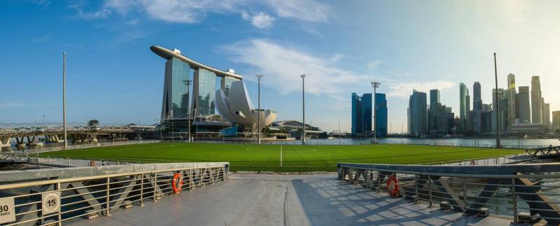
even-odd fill
[{"label": "white lotus-shaped museum with curved petals in front of the hotel", "polygon": [[260,127],[266,127],[276,119],[276,111],[255,109],[247,94],[245,83],[240,80],[232,83],[229,92],[216,90],[216,108],[226,120],[244,127],[258,126],[260,113]]}]

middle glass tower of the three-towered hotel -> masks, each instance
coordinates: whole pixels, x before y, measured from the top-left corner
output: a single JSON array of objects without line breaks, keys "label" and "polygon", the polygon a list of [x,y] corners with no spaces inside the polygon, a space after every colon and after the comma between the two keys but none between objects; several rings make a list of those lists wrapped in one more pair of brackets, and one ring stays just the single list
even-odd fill
[{"label": "middle glass tower of the three-towered hotel", "polygon": [[206,69],[196,69],[192,87],[194,115],[213,115],[215,113],[216,74]]}]

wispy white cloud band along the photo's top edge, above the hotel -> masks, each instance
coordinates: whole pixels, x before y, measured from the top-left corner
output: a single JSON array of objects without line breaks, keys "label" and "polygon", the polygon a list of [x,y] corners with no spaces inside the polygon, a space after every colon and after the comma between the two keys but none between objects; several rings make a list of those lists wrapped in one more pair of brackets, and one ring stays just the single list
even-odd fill
[{"label": "wispy white cloud band along the photo's top edge, above the hotel", "polygon": [[[329,6],[314,0],[105,0],[102,7],[93,12],[85,12],[81,7],[76,7],[81,5],[83,4],[79,1],[71,7],[84,19],[106,18],[113,11],[126,15],[135,10],[147,13],[154,20],[196,23],[204,20],[210,13],[239,13],[244,20],[251,18],[252,24],[259,29],[272,27],[274,17],[327,22],[330,11]],[[252,17],[251,12],[255,12]],[[275,15],[270,15],[271,13]]]}]

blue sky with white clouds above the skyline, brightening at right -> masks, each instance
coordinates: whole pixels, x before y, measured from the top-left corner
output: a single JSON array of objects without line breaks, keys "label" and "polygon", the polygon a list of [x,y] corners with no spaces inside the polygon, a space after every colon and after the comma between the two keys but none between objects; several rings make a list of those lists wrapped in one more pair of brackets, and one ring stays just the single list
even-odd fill
[{"label": "blue sky with white clouds above the skyline, brightening at right", "polygon": [[541,78],[560,110],[559,1],[1,1],[0,122],[60,122],[62,51],[69,122],[152,124],[159,118],[164,60],[150,45],[241,73],[253,102],[279,120],[349,131],[350,94],[387,93],[389,124],[406,128],[413,88],[441,90],[458,111],[458,84]]}]

